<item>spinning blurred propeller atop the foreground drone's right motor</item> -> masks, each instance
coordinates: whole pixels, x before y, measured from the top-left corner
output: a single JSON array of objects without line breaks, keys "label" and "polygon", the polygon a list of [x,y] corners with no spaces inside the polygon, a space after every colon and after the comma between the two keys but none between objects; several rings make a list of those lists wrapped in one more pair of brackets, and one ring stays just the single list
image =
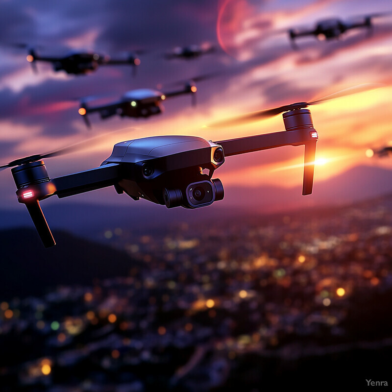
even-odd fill
[{"label": "spinning blurred propeller atop the foreground drone's right motor", "polygon": [[319,99],[316,99],[316,100],[313,100],[310,102],[296,102],[296,103],[292,103],[290,105],[283,105],[283,106],[279,106],[279,107],[275,107],[275,108],[271,108],[271,109],[259,110],[257,112],[248,113],[243,116],[235,117],[232,119],[218,121],[218,122],[212,123],[208,126],[212,127],[212,128],[219,128],[219,127],[223,127],[223,126],[235,126],[235,125],[241,125],[241,124],[245,124],[245,123],[252,123],[252,122],[255,122],[258,120],[263,120],[268,117],[276,116],[277,114],[280,114],[283,112],[302,109],[302,108],[308,107],[310,105],[316,105],[318,103],[328,101],[331,99],[346,97],[346,96],[349,96],[352,94],[357,94],[357,93],[361,93],[364,91],[374,90],[374,89],[377,89],[377,88],[380,88],[383,86],[385,86],[385,84],[383,84],[383,83],[359,84],[357,86],[349,87],[347,89],[338,91],[337,93],[333,93],[333,94],[328,95],[326,97],[322,97],[322,98],[319,98]]}]

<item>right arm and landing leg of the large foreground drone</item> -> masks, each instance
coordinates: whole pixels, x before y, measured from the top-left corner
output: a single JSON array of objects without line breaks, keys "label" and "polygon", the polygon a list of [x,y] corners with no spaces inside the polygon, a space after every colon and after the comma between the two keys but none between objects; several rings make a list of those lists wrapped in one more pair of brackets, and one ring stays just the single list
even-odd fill
[{"label": "right arm and landing leg of the large foreground drone", "polygon": [[302,195],[310,195],[313,188],[313,174],[316,157],[317,131],[314,128],[302,128],[293,131],[267,133],[245,138],[215,142],[223,147],[225,156],[245,154],[282,146],[305,146]]}]

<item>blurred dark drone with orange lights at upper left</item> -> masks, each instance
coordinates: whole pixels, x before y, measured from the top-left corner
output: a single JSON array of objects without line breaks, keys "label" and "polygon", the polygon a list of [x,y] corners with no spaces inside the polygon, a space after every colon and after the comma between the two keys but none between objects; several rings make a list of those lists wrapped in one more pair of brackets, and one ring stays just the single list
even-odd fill
[{"label": "blurred dark drone with orange lights at upper left", "polygon": [[56,72],[65,71],[68,74],[75,75],[92,73],[103,65],[131,65],[135,75],[136,67],[140,65],[140,59],[135,53],[129,54],[126,59],[114,59],[108,55],[90,51],[71,51],[65,56],[55,57],[40,56],[35,49],[29,49],[26,59],[35,73],[38,72],[36,61],[52,63],[53,70]]}]

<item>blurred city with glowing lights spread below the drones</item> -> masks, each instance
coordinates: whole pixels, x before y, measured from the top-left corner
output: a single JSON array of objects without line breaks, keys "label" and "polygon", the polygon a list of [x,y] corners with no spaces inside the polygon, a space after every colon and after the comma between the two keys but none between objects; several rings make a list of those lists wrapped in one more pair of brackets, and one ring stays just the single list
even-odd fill
[{"label": "blurred city with glowing lights spread below the drones", "polygon": [[129,275],[0,303],[0,391],[391,385],[391,223],[392,196],[108,228]]}]

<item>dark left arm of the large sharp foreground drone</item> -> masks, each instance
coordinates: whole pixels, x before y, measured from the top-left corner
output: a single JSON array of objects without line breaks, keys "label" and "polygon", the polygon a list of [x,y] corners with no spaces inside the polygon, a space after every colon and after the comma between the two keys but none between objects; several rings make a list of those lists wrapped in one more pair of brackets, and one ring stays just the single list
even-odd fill
[{"label": "dark left arm of the large sharp foreground drone", "polygon": [[56,177],[51,180],[55,185],[54,195],[59,198],[77,195],[95,189],[114,185],[119,179],[119,164],[107,164],[85,172]]}]

